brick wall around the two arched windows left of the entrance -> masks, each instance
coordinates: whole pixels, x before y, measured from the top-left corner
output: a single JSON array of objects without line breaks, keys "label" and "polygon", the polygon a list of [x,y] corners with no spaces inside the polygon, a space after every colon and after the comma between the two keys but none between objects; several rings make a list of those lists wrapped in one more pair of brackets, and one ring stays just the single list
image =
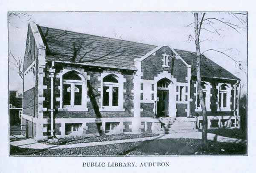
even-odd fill
[{"label": "brick wall around the two arched windows left of the entrance", "polygon": [[[47,85],[47,89],[44,89],[44,97],[45,101],[43,102],[44,107],[47,109],[50,109],[50,78],[49,76],[49,68],[50,66],[47,65],[45,69],[45,78],[44,78],[44,85]],[[61,66],[56,66],[56,74],[60,72],[60,70],[63,68]],[[90,80],[87,81],[87,88],[89,88],[89,91],[87,92],[87,98],[90,98],[90,101],[87,102],[87,108],[88,112],[58,112],[58,108],[60,107],[59,101],[56,101],[55,98],[58,98],[60,96],[60,90],[58,89],[58,86],[60,86],[60,79],[55,78],[54,79],[54,100],[55,100],[55,118],[108,118],[108,117],[133,117],[133,112],[131,112],[131,109],[133,108],[133,93],[131,90],[133,89],[133,74],[132,72],[126,72],[122,71],[122,75],[124,75],[124,78],[126,79],[126,82],[124,83],[124,89],[126,89],[126,92],[124,92],[124,109],[125,112],[99,112],[99,108],[101,107],[99,103],[100,99],[100,92],[98,89],[100,89],[101,81],[98,81],[98,77],[103,72],[102,69],[96,69],[96,68],[85,68],[87,70],[87,75],[90,75]],[[50,117],[50,112],[44,112],[43,114],[44,118]]]}]

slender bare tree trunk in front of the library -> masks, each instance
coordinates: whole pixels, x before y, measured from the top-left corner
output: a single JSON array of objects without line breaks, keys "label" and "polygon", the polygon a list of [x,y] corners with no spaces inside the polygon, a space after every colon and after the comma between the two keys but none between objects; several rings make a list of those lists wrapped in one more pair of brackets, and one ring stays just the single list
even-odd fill
[{"label": "slender bare tree trunk in front of the library", "polygon": [[202,108],[203,114],[203,129],[202,129],[202,142],[204,149],[208,149],[208,142],[207,142],[207,112],[205,107],[203,89],[201,85],[201,52],[200,52],[200,42],[199,42],[199,34],[200,29],[198,29],[198,13],[194,13],[195,17],[195,48],[196,48],[196,74],[197,74],[197,81],[198,81],[198,95],[200,99],[200,104]]}]

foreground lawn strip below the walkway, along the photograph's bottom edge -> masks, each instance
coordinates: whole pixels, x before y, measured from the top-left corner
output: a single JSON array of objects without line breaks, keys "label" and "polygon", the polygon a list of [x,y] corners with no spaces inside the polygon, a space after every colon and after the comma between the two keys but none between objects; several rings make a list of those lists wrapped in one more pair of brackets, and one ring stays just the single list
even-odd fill
[{"label": "foreground lawn strip below the walkway, along the photograph's bottom edge", "polygon": [[69,149],[33,150],[11,146],[11,155],[29,156],[148,156],[148,155],[244,155],[246,144],[209,141],[202,148],[200,139],[160,139]]}]

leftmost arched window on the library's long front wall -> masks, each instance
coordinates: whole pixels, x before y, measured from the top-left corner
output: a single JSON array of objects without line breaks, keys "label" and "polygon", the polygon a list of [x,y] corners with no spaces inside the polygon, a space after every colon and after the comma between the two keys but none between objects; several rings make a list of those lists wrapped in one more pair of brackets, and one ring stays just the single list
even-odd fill
[{"label": "leftmost arched window on the library's long front wall", "polygon": [[82,78],[76,71],[63,75],[63,106],[74,107],[82,103]]}]

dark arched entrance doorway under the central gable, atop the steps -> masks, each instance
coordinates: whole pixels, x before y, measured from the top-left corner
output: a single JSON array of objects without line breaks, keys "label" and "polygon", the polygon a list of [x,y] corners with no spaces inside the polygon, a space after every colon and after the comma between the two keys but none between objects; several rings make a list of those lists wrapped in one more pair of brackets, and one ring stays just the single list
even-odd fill
[{"label": "dark arched entrance doorway under the central gable, atop the steps", "polygon": [[157,82],[157,118],[169,117],[171,83],[167,78]]}]

